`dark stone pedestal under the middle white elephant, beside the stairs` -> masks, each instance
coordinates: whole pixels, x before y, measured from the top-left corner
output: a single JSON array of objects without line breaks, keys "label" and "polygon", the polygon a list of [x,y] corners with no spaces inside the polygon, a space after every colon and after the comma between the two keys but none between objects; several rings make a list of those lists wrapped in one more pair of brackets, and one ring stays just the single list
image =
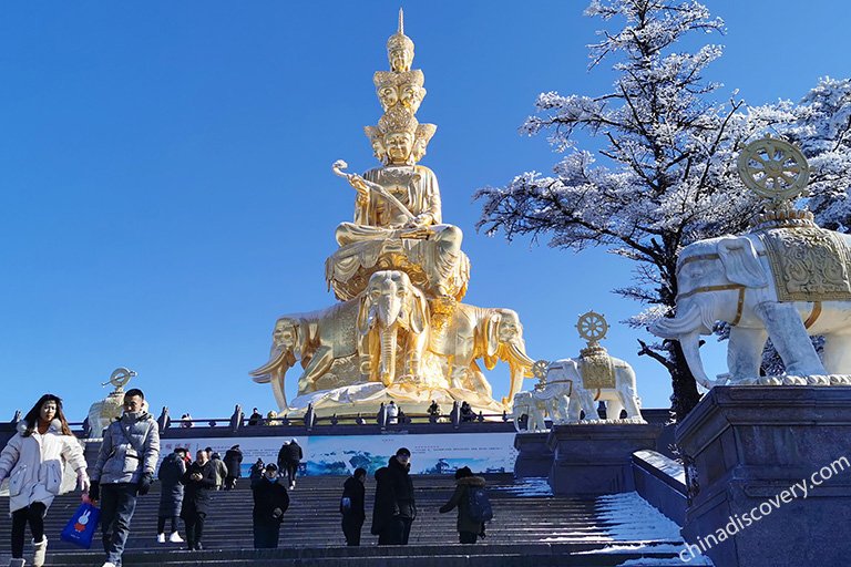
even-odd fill
[{"label": "dark stone pedestal under the middle white elephant, beside the stairs", "polygon": [[660,433],[662,425],[645,423],[553,426],[546,440],[553,451],[553,494],[595,497],[634,491],[633,453],[655,450]]}]

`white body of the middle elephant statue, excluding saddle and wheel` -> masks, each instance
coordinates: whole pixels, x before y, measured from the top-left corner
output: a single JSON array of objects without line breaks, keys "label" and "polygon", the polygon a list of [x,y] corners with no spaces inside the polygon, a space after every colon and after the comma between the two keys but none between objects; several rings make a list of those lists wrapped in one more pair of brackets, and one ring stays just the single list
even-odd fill
[{"label": "white body of the middle elephant statue, excluding saddle and wheel", "polygon": [[[546,371],[544,390],[565,391],[570,395],[570,405],[564,422],[578,423],[581,411],[585,412],[583,421],[599,421],[597,406],[594,402],[606,402],[606,421],[621,420],[621,411],[626,410],[626,420],[630,423],[645,423],[640,412],[640,401],[635,386],[635,371],[628,362],[609,357],[615,373],[614,388],[585,388],[580,371],[580,361],[574,359],[556,360],[550,363]],[[572,391],[571,391],[572,388]]]}]

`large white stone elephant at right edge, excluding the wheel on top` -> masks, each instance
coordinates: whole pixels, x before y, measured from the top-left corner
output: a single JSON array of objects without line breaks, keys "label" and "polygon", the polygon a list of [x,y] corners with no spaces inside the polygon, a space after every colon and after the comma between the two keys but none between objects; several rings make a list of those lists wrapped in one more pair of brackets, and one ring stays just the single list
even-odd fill
[{"label": "large white stone elephant at right edge, excluding the wheel on top", "polygon": [[[851,236],[814,227],[799,230],[803,229],[788,230],[783,237],[803,234],[834,243],[837,258],[824,255],[824,248],[818,252],[821,257],[810,255],[800,246],[806,240],[793,238],[797,246],[782,255],[788,257],[771,259],[772,252],[761,238],[766,235],[759,233],[700,240],[680,252],[676,317],[660,319],[649,330],[679,341],[691,373],[703,386],[725,383],[724,379],[707,377],[698,349],[699,336],[711,333],[719,320],[731,326],[728,383],[760,381],[762,349],[769,337],[790,378],[772,377],[767,383],[847,383],[851,374],[851,301],[830,300],[830,290],[848,287],[845,258]],[[773,272],[772,265],[778,261],[785,262],[782,274]],[[803,299],[810,300],[781,301],[778,286],[787,290],[788,280],[797,282],[803,296],[810,296]],[[809,334],[824,336],[823,362]]]}]

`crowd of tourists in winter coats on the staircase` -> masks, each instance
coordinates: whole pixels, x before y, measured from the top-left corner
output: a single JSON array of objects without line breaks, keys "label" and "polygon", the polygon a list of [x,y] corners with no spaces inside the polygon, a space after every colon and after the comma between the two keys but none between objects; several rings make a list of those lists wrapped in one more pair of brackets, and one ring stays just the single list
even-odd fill
[{"label": "crowd of tourists in winter coats on the staircase", "polygon": [[[123,413],[103,431],[103,442],[91,471],[88,471],[80,443],[69,429],[61,399],[44,394],[23,416],[18,424],[18,433],[0,453],[0,482],[10,478],[10,567],[25,565],[23,546],[28,525],[34,549],[32,564],[35,567],[44,565],[48,548],[44,517],[60,493],[65,465],[75,472],[84,499],[100,505],[102,544],[106,554],[102,567],[121,565],[136,499],[148,493],[160,457],[160,429],[146,408],[141,390],[131,389],[124,394]],[[259,414],[256,409],[255,414]],[[177,447],[160,465],[156,538],[161,544],[184,543],[177,526],[181,518],[185,527],[186,548],[202,549],[212,492],[236,488],[243,462],[238,444],[227,450],[224,458],[212,447],[198,450],[194,456],[193,461],[187,449]],[[280,524],[289,507],[288,489],[296,487],[296,475],[303,458],[304,452],[293,439],[280,447],[277,463],[264,464],[258,458],[252,465],[249,477],[256,548],[278,546]],[[400,447],[388,464],[375,473],[376,495],[370,532],[378,536],[378,545],[408,544],[417,518],[410,470],[411,452]],[[360,545],[366,522],[366,480],[367,471],[356,468],[342,486],[339,512],[342,534],[349,546]],[[479,509],[481,498],[484,498],[490,511],[486,496],[480,496],[485,482],[468,467],[457,471],[455,480],[455,492],[440,512],[458,508],[459,540],[473,544],[478,537],[484,536],[484,522],[490,519],[482,516]],[[170,527],[167,536],[166,526]]]}]

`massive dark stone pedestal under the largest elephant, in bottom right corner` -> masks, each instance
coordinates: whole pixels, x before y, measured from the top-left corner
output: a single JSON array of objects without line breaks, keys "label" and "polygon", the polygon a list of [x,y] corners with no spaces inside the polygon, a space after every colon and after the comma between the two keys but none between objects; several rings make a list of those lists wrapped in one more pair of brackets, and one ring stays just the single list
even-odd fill
[{"label": "massive dark stone pedestal under the largest elephant, in bottom right corner", "polygon": [[848,564],[851,388],[717,386],[676,435],[683,535],[715,565]]}]

